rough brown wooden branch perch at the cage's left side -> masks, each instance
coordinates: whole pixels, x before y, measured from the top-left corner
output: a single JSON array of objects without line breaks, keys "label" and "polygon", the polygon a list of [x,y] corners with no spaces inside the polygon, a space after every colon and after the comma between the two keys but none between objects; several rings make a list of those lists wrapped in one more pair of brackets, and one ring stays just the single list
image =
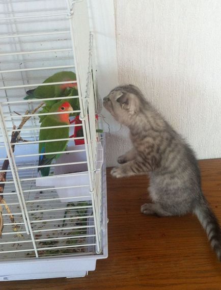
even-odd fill
[{"label": "rough brown wooden branch perch at the cage's left side", "polygon": [[[40,109],[42,106],[43,106],[44,103],[41,103],[37,108],[35,108],[31,115],[34,114],[36,111],[38,111],[38,109]],[[29,111],[27,110],[25,112],[25,115],[28,115],[29,114]],[[17,143],[17,142],[26,142],[26,140],[22,139],[20,137],[20,131],[21,131],[21,128],[23,127],[23,125],[27,122],[27,120],[29,120],[32,116],[26,116],[26,117],[23,117],[22,120],[21,120],[21,123],[20,125],[18,126],[17,130],[16,130],[16,127],[15,125],[13,126],[13,131],[12,131],[12,136],[11,136],[11,143]],[[14,131],[16,130],[16,131]],[[12,148],[12,152],[15,151],[15,145],[11,145],[11,148]],[[4,188],[5,188],[5,182],[6,182],[6,175],[7,175],[7,170],[8,170],[8,167],[9,167],[9,158],[7,156],[7,159],[4,160],[3,162],[3,165],[2,165],[2,172],[0,172],[0,204],[4,204],[8,214],[9,214],[9,217],[10,217],[10,220],[11,222],[14,224],[14,228],[13,230],[14,231],[18,231],[18,226],[16,225],[15,223],[15,220],[14,220],[14,217],[11,213],[11,210],[9,209],[9,206],[7,205],[6,201],[4,200],[4,196],[3,196],[3,192],[4,192]],[[4,222],[3,222],[3,216],[2,216],[2,206],[0,205],[0,236],[2,236],[2,231],[3,231],[3,227],[4,227]]]}]

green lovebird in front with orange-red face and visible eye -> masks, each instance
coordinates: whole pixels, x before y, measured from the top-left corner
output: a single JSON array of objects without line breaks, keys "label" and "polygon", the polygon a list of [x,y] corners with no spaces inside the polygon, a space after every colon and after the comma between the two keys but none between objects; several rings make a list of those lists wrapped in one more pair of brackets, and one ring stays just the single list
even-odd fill
[{"label": "green lovebird in front with orange-red face and visible eye", "polygon": [[[49,126],[61,126],[69,124],[69,115],[70,112],[73,111],[69,102],[61,100],[51,107],[49,113],[52,112],[66,112],[64,114],[53,114],[47,115],[41,123],[41,127],[49,127]],[[39,133],[39,141],[45,140],[45,142],[39,143],[39,153],[50,153],[57,151],[64,151],[68,140],[62,141],[52,141],[47,142],[47,140],[53,139],[63,139],[69,138],[69,127],[61,127],[61,128],[50,128],[50,129],[40,129]],[[48,154],[48,155],[40,155],[38,166],[41,165],[49,165],[51,164],[53,159],[58,159],[60,154]],[[48,176],[50,167],[40,167],[38,168],[38,172],[41,171],[41,176]]]}]

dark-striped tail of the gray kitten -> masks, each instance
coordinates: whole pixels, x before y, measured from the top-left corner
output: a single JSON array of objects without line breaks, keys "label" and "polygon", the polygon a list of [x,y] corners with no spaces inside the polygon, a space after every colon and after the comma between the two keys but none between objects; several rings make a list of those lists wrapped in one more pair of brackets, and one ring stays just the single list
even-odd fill
[{"label": "dark-striped tail of the gray kitten", "polygon": [[221,230],[212,210],[209,207],[206,199],[200,201],[200,203],[194,209],[194,214],[198,217],[201,225],[205,229],[211,247],[215,251],[219,261],[221,261]]}]

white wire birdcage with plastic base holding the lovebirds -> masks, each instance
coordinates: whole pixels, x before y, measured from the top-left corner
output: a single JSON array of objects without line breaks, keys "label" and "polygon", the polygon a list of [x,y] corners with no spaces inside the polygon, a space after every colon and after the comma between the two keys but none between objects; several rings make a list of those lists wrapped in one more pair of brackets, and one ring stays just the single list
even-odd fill
[{"label": "white wire birdcage with plastic base holding the lovebirds", "polygon": [[[0,176],[7,173],[0,188],[4,186],[3,201],[10,210],[1,204],[0,280],[85,276],[97,259],[107,256],[105,144],[96,133],[98,99],[87,1],[1,0],[0,17]],[[72,113],[82,123],[66,127],[72,135],[81,126],[84,136],[65,139],[66,151],[54,152],[60,157],[42,166],[50,166],[49,176],[42,177],[41,108],[35,109],[49,99],[24,97],[61,71],[75,72],[76,81],[50,85],[77,84],[78,95],[66,99],[79,99],[80,110]],[[25,116],[31,118],[12,141]],[[75,145],[76,140],[84,144]]]}]

